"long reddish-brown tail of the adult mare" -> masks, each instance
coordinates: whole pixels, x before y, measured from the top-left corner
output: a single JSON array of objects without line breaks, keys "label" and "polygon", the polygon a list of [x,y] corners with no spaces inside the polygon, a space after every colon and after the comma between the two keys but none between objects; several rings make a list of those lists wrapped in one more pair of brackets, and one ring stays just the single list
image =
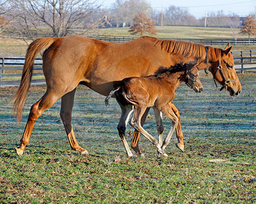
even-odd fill
[{"label": "long reddish-brown tail of the adult mare", "polygon": [[22,78],[20,81],[19,89],[16,92],[13,100],[11,100],[10,104],[13,104],[13,110],[16,112],[16,120],[20,121],[22,117],[22,109],[24,107],[25,101],[27,99],[27,92],[30,88],[34,60],[36,55],[44,50],[49,48],[56,41],[56,38],[51,37],[43,37],[41,39],[36,39],[33,41],[27,48],[26,59],[23,66]]}]

